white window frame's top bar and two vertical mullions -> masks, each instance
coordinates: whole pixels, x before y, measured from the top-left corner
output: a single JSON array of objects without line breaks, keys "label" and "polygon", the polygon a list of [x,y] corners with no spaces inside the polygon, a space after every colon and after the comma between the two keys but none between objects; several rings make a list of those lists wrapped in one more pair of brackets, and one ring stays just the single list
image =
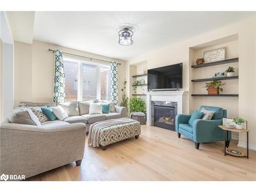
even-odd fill
[{"label": "white window frame's top bar and two vertical mullions", "polygon": [[[77,63],[77,101],[82,101],[82,64],[87,64],[91,66],[96,66],[96,99],[100,99],[100,87],[101,87],[101,79],[100,79],[100,67],[110,68],[110,63],[103,63],[97,61],[91,61],[83,58],[70,57],[69,55],[63,56],[63,61],[71,61]],[[64,65],[65,68],[65,65]]]}]

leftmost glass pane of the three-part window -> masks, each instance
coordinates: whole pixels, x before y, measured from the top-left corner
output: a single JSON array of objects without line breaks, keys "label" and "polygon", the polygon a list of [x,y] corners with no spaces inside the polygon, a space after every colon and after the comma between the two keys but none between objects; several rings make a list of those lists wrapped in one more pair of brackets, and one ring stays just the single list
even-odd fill
[{"label": "leftmost glass pane of the three-part window", "polygon": [[78,63],[72,61],[63,61],[66,80],[66,101],[77,101],[77,76]]}]

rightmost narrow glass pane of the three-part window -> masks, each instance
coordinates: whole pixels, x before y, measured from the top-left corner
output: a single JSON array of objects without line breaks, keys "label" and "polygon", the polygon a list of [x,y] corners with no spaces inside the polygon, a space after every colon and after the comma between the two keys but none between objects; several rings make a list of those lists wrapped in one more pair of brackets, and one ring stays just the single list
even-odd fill
[{"label": "rightmost narrow glass pane of the three-part window", "polygon": [[101,67],[100,68],[100,99],[101,100],[110,100],[110,68]]}]

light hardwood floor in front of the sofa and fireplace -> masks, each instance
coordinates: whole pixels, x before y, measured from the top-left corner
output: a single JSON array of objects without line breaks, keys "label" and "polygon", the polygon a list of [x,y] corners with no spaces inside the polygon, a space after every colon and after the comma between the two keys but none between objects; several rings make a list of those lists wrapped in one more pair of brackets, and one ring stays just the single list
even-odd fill
[{"label": "light hardwood floor in front of the sofa and fireplace", "polygon": [[[236,141],[230,147],[237,147]],[[141,127],[139,139],[110,145],[106,151],[86,143],[81,166],[75,162],[28,178],[34,181],[246,181],[256,180],[256,152],[249,159],[223,155],[223,142],[193,141],[159,127]]]}]

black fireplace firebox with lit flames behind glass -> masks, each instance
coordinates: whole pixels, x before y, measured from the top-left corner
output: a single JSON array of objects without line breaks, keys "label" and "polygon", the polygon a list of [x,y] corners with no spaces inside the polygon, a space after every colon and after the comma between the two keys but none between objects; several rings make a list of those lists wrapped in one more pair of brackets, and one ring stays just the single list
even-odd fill
[{"label": "black fireplace firebox with lit flames behind glass", "polygon": [[175,106],[154,105],[154,126],[175,131]]}]

